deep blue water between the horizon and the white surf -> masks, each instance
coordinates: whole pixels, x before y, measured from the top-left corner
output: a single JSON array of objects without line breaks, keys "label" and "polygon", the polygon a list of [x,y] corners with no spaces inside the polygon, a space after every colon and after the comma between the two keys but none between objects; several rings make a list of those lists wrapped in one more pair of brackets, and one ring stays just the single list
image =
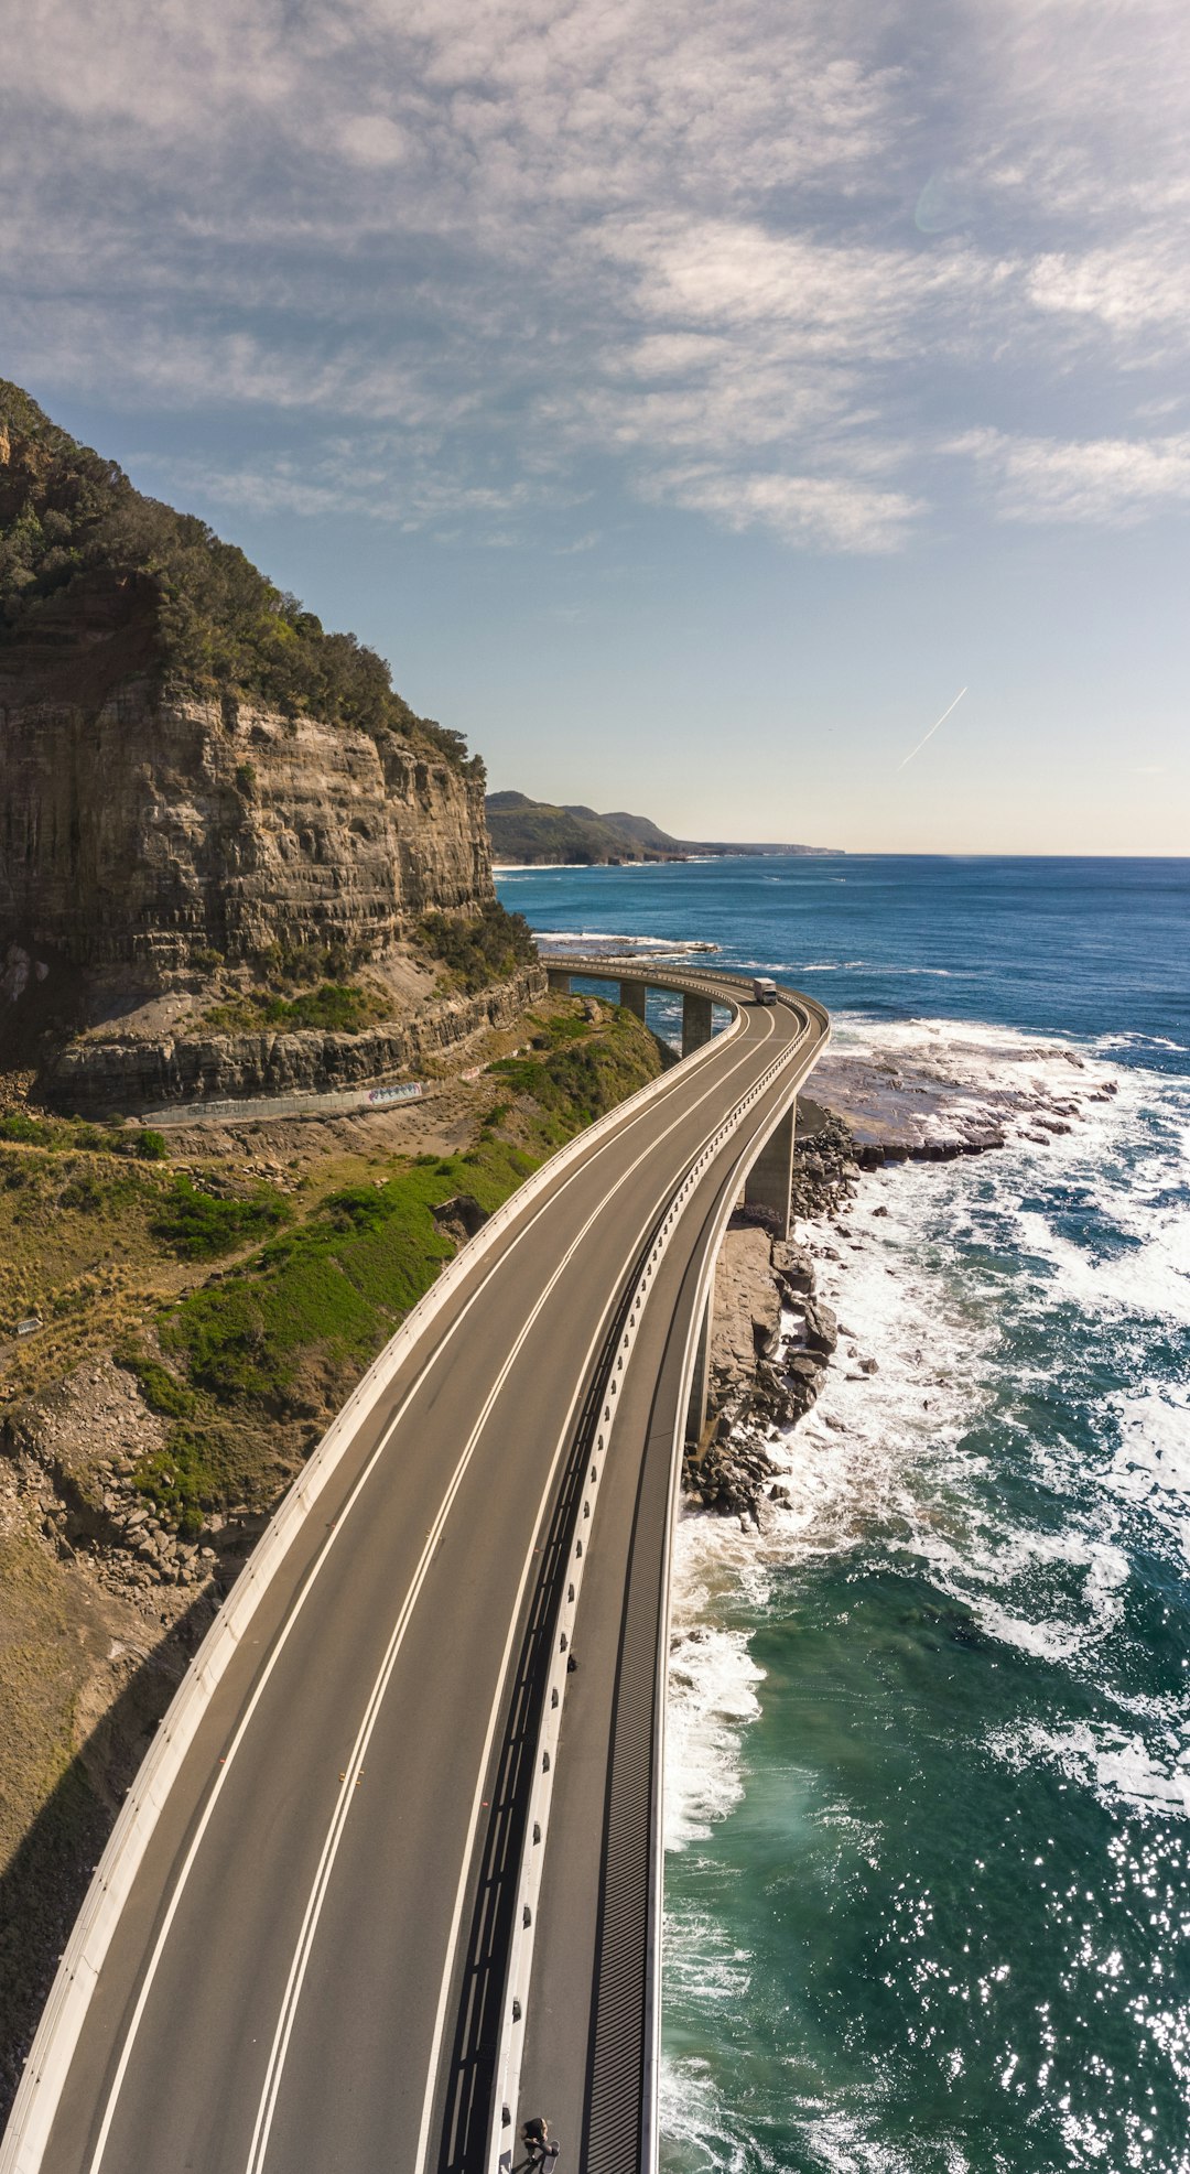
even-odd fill
[{"label": "deep blue water between the horizon and the white surf", "polygon": [[679,861],[498,887],[535,928],[714,941],[724,965],[805,976],[827,1009],[1131,1033],[1157,1070],[1188,1065],[1190,859]]}]

